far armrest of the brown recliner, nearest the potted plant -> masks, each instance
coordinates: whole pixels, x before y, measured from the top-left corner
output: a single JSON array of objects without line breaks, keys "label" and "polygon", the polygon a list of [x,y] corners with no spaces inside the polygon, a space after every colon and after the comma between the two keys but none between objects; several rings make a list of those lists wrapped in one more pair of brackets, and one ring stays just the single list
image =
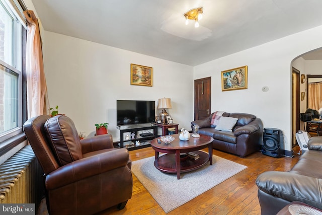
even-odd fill
[{"label": "far armrest of the brown recliner, nearest the potted plant", "polygon": [[114,148],[111,134],[103,134],[81,139],[81,146],[82,154]]}]

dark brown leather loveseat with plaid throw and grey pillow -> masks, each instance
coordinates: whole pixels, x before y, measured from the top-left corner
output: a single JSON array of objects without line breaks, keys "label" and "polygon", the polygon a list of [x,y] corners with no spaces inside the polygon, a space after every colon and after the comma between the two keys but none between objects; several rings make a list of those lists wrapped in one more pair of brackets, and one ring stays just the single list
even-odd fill
[{"label": "dark brown leather loveseat with plaid throw and grey pillow", "polygon": [[198,125],[199,133],[213,137],[213,149],[232,153],[240,157],[245,157],[260,150],[263,139],[263,123],[262,120],[253,114],[248,113],[223,113],[222,116],[238,118],[237,123],[232,131],[215,130],[216,126],[211,124],[209,117],[202,120],[191,122],[191,128]]}]

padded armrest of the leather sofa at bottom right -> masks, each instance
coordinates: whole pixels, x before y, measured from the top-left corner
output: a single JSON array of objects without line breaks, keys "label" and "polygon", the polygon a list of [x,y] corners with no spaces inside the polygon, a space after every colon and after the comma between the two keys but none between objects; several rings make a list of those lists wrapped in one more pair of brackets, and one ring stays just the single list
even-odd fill
[{"label": "padded armrest of the leather sofa at bottom right", "polygon": [[321,179],[290,172],[269,171],[256,179],[258,188],[287,201],[301,201],[321,208]]}]

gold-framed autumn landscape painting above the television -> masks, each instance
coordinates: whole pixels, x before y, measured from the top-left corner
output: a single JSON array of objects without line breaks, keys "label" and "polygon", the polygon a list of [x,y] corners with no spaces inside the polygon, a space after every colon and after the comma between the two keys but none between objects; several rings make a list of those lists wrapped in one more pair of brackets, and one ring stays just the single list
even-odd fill
[{"label": "gold-framed autumn landscape painting above the television", "polygon": [[152,67],[131,63],[131,85],[152,87]]}]

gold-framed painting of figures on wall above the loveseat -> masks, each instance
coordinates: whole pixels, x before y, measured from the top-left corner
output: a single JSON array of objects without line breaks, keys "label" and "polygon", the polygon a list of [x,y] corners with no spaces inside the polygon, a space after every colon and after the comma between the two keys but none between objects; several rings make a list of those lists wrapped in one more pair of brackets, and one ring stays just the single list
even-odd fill
[{"label": "gold-framed painting of figures on wall above the loveseat", "polygon": [[221,90],[248,89],[248,66],[221,71]]}]

